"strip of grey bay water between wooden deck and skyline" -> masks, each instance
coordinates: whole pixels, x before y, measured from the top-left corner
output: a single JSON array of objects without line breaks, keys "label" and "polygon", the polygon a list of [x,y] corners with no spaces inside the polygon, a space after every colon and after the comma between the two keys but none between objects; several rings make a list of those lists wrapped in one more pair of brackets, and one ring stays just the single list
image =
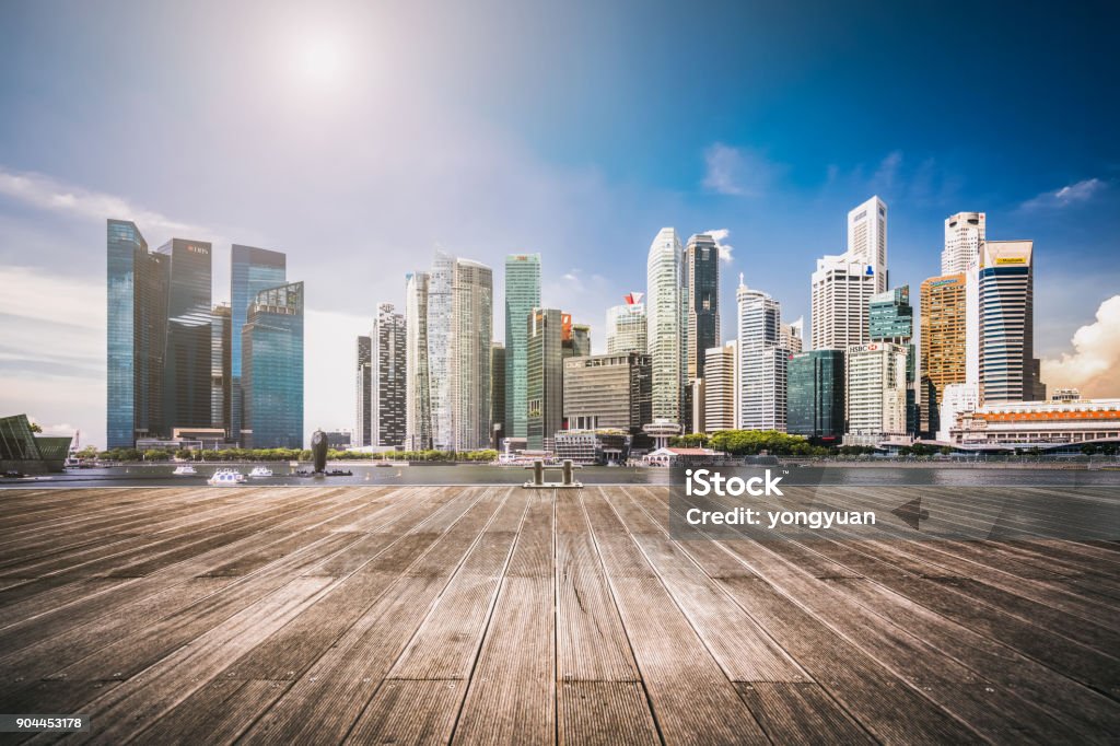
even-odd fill
[{"label": "strip of grey bay water between wooden deck and skyline", "polygon": [[[36,479],[0,479],[8,487],[118,487],[118,486],[205,486],[218,468],[236,468],[248,475],[255,464],[196,464],[198,474],[175,476],[175,465],[131,465],[102,469],[77,469]],[[463,464],[436,466],[388,466],[338,464],[328,468],[349,469],[352,476],[297,476],[288,464],[267,464],[273,476],[249,479],[258,486],[293,485],[374,485],[374,484],[521,484],[529,478],[519,467]],[[301,468],[309,468],[304,465]],[[585,484],[669,484],[665,468],[591,466],[576,477]],[[559,479],[559,474],[557,474]],[[1120,472],[1058,468],[993,468],[990,466],[939,465],[931,467],[875,466],[793,467],[784,476],[786,484],[833,485],[941,485],[941,486],[1120,486]]]}]

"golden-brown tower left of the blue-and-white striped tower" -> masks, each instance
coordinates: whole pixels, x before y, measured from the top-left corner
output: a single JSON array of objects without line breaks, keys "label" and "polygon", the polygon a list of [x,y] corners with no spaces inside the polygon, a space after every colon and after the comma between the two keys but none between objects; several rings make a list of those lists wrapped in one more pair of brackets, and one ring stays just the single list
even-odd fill
[{"label": "golden-brown tower left of the blue-and-white striped tower", "polygon": [[[948,230],[948,229],[946,229]],[[922,283],[922,402],[923,431],[940,429],[941,400],[945,386],[964,383],[965,375],[965,276],[963,272],[931,277]]]}]

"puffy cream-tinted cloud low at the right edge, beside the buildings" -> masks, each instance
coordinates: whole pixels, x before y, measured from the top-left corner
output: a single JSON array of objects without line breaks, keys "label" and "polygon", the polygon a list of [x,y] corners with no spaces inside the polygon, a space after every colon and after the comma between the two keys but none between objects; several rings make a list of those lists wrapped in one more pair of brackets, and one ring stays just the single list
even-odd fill
[{"label": "puffy cream-tinted cloud low at the right edge, beside the buildings", "polygon": [[1043,361],[1049,390],[1076,388],[1083,397],[1120,397],[1120,295],[1096,309],[1096,320],[1073,335],[1073,353]]}]

